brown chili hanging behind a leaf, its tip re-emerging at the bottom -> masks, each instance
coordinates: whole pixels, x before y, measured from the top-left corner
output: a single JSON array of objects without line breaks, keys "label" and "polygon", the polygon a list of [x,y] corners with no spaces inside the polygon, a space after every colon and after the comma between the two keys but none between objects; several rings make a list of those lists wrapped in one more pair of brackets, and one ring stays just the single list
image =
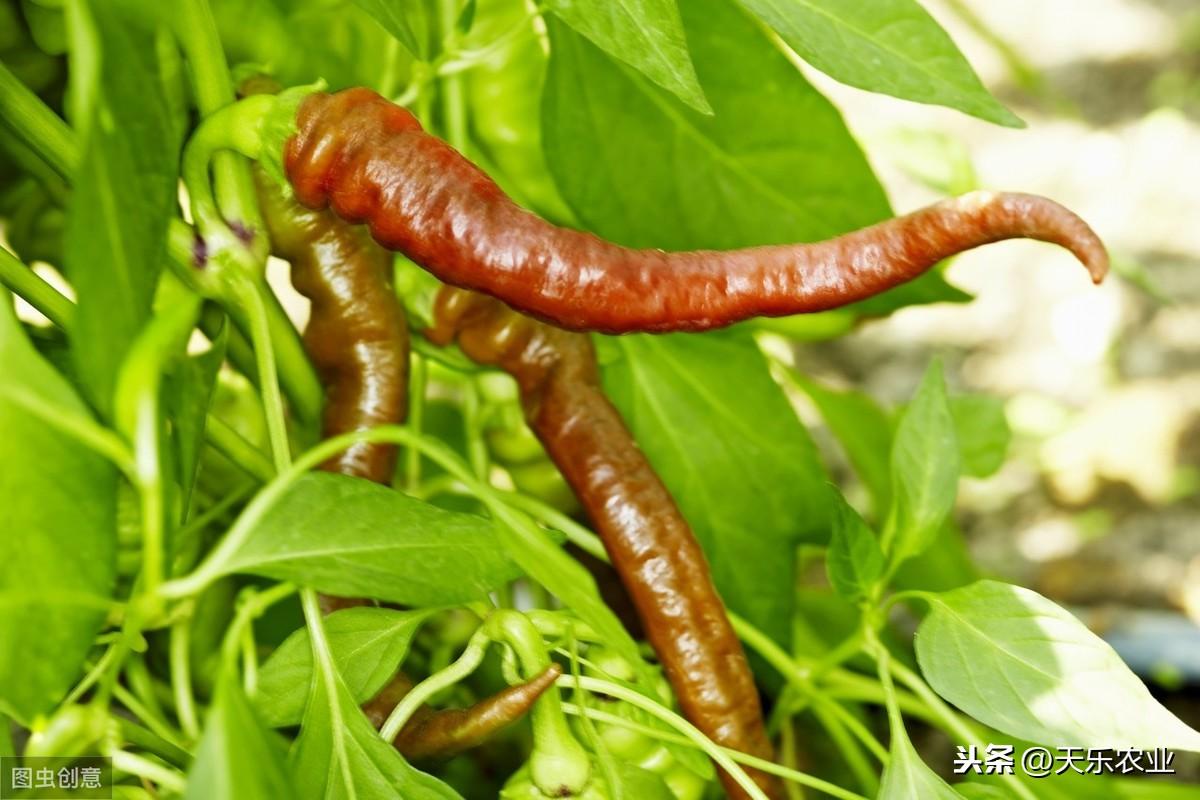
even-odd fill
[{"label": "brown chili hanging behind a leaf, its tip re-emerging at the bottom", "polygon": [[[282,197],[262,174],[256,180],[271,252],[292,263],[293,284],[312,301],[304,343],[328,393],[324,435],[402,422],[408,329],[391,285],[391,255],[361,229]],[[395,447],[374,443],[355,445],[322,465],[384,485],[391,483],[394,467]],[[365,603],[320,596],[326,614]],[[395,745],[408,758],[449,757],[474,747],[528,714],[560,672],[553,667],[467,709],[424,706],[397,734]],[[364,711],[376,721],[385,709],[386,717],[412,687],[412,679],[397,673]]]}]

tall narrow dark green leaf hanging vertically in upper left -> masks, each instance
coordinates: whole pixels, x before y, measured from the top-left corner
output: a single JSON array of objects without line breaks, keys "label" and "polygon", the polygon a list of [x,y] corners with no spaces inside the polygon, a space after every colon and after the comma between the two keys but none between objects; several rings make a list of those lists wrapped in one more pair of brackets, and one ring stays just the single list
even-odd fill
[{"label": "tall narrow dark green leaf hanging vertically in upper left", "polygon": [[68,10],[82,146],[64,255],[79,301],[71,349],[90,399],[107,413],[166,258],[179,140],[152,40],[122,24],[108,4],[79,0]]}]

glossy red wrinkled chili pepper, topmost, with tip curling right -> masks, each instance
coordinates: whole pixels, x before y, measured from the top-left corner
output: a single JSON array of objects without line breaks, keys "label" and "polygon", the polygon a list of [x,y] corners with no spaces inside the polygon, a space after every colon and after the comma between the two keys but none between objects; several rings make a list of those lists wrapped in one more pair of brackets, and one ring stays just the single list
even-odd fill
[{"label": "glossy red wrinkled chili pepper, topmost, with tip curling right", "polygon": [[299,200],[365,222],[442,281],[570,330],[700,331],[824,311],[1004,239],[1067,247],[1099,282],[1108,253],[1082,219],[1031,194],[976,192],[810,245],[666,253],[559,228],[368,89],[308,96],[284,169]]}]

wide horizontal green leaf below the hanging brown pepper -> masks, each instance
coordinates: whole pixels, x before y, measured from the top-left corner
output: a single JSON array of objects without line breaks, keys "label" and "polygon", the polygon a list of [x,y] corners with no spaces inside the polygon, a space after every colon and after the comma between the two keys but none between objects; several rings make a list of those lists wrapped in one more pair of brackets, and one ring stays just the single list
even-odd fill
[{"label": "wide horizontal green leaf below the hanging brown pepper", "polygon": [[520,576],[491,521],[332,473],[290,486],[224,571],[418,607],[479,600]]}]

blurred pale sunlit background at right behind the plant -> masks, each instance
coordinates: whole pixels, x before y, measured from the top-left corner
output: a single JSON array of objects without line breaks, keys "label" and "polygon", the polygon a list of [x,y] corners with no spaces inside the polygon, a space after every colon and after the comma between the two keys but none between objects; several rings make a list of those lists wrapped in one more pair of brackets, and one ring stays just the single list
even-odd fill
[{"label": "blurred pale sunlit background at right behind the plant", "polygon": [[1057,248],[983,248],[948,272],[973,302],[904,309],[798,363],[894,405],[937,353],[953,389],[1003,398],[1009,458],[960,493],[973,555],[1079,613],[1196,724],[1200,4],[923,2],[1028,127],[808,70],[896,211],[976,187],[1046,194],[1092,223],[1117,275],[1096,288]]}]

